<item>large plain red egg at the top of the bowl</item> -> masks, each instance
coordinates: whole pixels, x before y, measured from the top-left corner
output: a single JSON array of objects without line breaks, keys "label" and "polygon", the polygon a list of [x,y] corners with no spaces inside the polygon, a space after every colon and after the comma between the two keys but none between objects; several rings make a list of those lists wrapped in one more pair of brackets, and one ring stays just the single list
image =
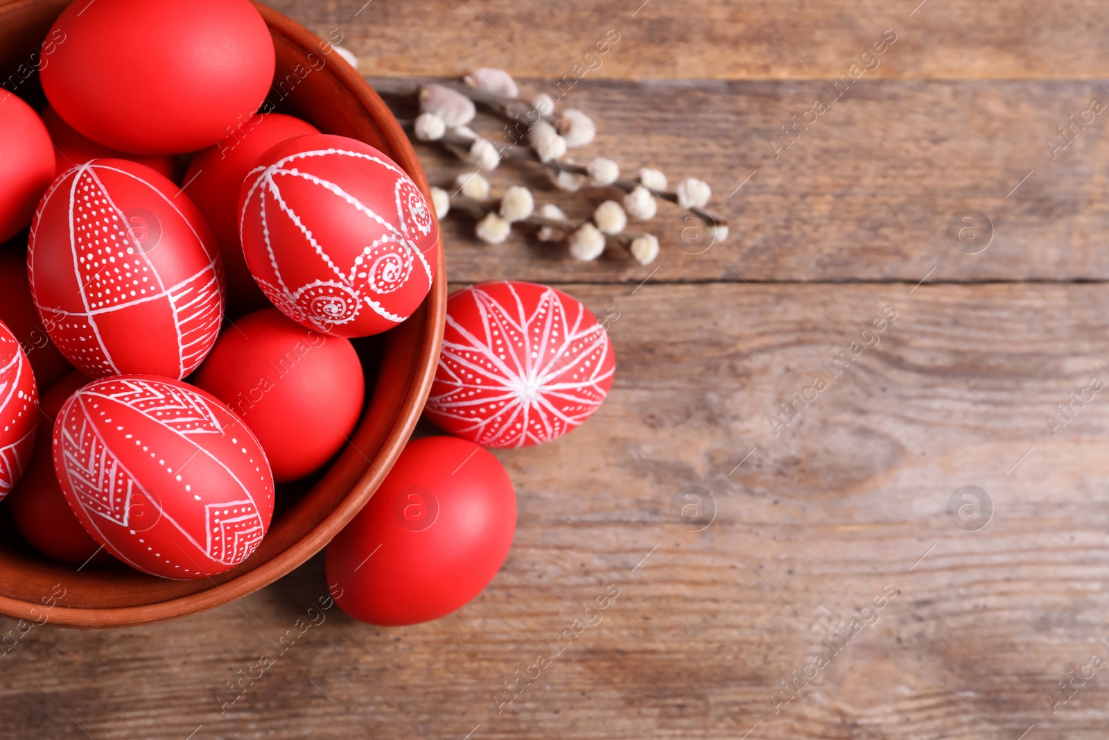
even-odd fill
[{"label": "large plain red egg at the top of the bowl", "polygon": [[74,129],[138,154],[203,149],[248,119],[274,77],[266,23],[248,0],[74,2],[42,89]]}]

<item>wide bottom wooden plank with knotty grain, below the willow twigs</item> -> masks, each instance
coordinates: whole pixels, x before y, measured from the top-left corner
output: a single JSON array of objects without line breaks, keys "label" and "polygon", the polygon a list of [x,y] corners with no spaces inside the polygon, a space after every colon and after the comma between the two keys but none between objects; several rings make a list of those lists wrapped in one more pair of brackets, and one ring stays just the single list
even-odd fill
[{"label": "wide bottom wooden plank with knotty grain, below the willow twigs", "polygon": [[[1029,738],[1103,737],[1102,672],[1056,713],[1049,697],[1109,650],[1109,389],[1082,391],[1109,381],[1109,288],[567,290],[619,311],[617,379],[603,416],[498,453],[520,515],[497,588],[405,629],[327,611],[222,716],[225,681],[276,652],[326,594],[319,558],[175,624],[35,627],[3,659],[9,731],[734,740],[757,724],[752,740],[1016,740],[1035,724]],[[853,342],[874,346],[855,357]],[[841,353],[834,375],[824,364]],[[822,373],[828,387],[775,435],[767,415]],[[1091,399],[1052,436],[1045,417],[1071,392]],[[946,514],[966,485],[993,501],[978,530]],[[685,486],[715,501],[701,531],[672,518]],[[499,707],[503,681],[553,655],[610,584],[620,595],[600,622]],[[838,651],[822,641],[894,590]],[[830,665],[775,713],[779,682],[822,652]]]}]

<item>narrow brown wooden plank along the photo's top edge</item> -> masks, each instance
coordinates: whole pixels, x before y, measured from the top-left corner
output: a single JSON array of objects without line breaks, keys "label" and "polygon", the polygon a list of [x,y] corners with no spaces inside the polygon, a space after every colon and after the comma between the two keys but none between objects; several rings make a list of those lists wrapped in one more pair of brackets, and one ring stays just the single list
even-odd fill
[{"label": "narrow brown wooden plank along the photo's top edge", "polygon": [[[581,63],[593,67],[590,77],[610,79],[834,79],[858,62],[885,29],[898,40],[879,59],[886,63],[875,77],[1109,74],[1105,13],[1079,0],[269,4],[321,38],[342,34],[342,43],[364,60],[366,74],[459,74],[501,67],[520,77],[561,78]],[[584,58],[608,29],[615,29],[620,41],[603,57]]]}]

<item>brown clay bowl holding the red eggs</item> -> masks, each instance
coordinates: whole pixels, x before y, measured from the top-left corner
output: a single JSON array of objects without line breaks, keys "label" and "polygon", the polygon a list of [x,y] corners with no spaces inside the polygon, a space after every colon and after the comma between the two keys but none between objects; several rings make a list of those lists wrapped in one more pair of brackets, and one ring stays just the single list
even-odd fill
[{"label": "brown clay bowl holding the red eggs", "polygon": [[[43,102],[38,75],[32,73],[35,52],[67,4],[67,0],[0,0],[0,81],[35,105]],[[416,153],[377,93],[302,26],[257,7],[277,51],[272,89],[277,110],[304,118],[325,133],[359,139],[381,150],[411,175],[430,202]],[[349,444],[322,474],[298,488],[278,488],[268,534],[238,567],[197,581],[165,580],[118,564],[78,570],[34,553],[0,505],[0,612],[38,622],[45,616],[49,622],[71,627],[145,625],[238,599],[303,564],[369,500],[408,440],[435,374],[446,300],[440,243],[438,275],[423,306],[397,328],[357,345],[366,369],[367,403]],[[51,595],[62,589],[64,597],[45,608]]]}]

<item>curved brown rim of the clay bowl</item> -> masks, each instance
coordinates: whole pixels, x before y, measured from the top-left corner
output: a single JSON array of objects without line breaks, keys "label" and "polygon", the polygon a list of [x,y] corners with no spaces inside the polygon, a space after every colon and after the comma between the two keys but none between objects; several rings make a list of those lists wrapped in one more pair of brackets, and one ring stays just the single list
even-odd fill
[{"label": "curved brown rim of the clay bowl", "polygon": [[[11,9],[18,6],[37,4],[39,0],[0,0],[0,7]],[[284,36],[305,51],[329,48],[306,28],[276,10],[251,0],[262,14],[271,32]],[[328,65],[330,73],[367,111],[380,129],[385,141],[393,149],[393,160],[416,182],[427,201],[431,193],[427,176],[419,164],[411,142],[381,98],[350,64],[336,62]],[[350,487],[344,498],[304,537],[285,550],[256,568],[246,570],[228,580],[212,581],[212,587],[192,594],[172,597],[162,601],[126,607],[68,607],[58,601],[49,611],[49,624],[63,627],[111,628],[151,625],[179,619],[206,611],[252,594],[303,565],[322,550],[340,529],[354,518],[377,490],[386,474],[393,467],[400,452],[411,436],[419,420],[424,404],[431,389],[431,381],[438,365],[439,349],[446,323],[447,278],[442,232],[439,232],[438,271],[421,307],[423,341],[416,363],[408,374],[407,396],[385,435],[380,449],[362,477]],[[414,318],[417,318],[414,316]],[[411,320],[409,320],[411,321]],[[430,338],[430,341],[428,341]],[[368,403],[368,398],[367,398]],[[365,417],[363,417],[364,419]],[[359,422],[360,426],[362,422]],[[353,443],[348,443],[347,447]],[[42,605],[35,601],[0,595],[0,614],[16,619],[41,619]]]}]

